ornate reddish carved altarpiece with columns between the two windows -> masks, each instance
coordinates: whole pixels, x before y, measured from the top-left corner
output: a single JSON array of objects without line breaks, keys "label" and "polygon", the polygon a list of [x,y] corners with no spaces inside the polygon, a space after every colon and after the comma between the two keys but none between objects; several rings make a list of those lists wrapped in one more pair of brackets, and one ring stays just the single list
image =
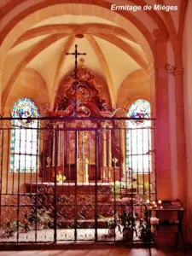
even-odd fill
[{"label": "ornate reddish carved altarpiece with columns between the two windows", "polygon": [[[119,134],[111,130],[112,120],[96,119],[110,118],[112,110],[102,99],[101,86],[93,73],[84,67],[84,59],[80,61],[78,81],[74,79],[74,71],[67,73],[56,94],[55,109],[49,112],[51,117],[67,118],[75,115],[79,117],[79,120],[74,118],[73,121],[65,123],[59,120],[52,122],[53,127],[58,129],[56,175],[65,176],[70,182],[75,182],[77,179],[77,183],[91,183],[91,180],[95,181],[96,175],[98,181],[104,179],[106,182],[113,182],[114,165],[115,180],[118,180],[120,173],[123,173],[123,154]],[[96,131],[98,131],[99,155],[97,160]],[[43,182],[53,182],[55,180],[54,133],[49,135],[47,142],[44,142],[40,166]]]}]

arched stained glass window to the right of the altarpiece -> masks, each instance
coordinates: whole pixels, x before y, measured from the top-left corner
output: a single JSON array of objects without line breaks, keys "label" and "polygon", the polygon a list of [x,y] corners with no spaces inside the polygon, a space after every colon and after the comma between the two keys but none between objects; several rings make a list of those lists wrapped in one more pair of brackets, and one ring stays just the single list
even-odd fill
[{"label": "arched stained glass window to the right of the altarpiece", "polygon": [[128,109],[126,130],[127,172],[146,173],[151,171],[151,106],[139,99]]}]

